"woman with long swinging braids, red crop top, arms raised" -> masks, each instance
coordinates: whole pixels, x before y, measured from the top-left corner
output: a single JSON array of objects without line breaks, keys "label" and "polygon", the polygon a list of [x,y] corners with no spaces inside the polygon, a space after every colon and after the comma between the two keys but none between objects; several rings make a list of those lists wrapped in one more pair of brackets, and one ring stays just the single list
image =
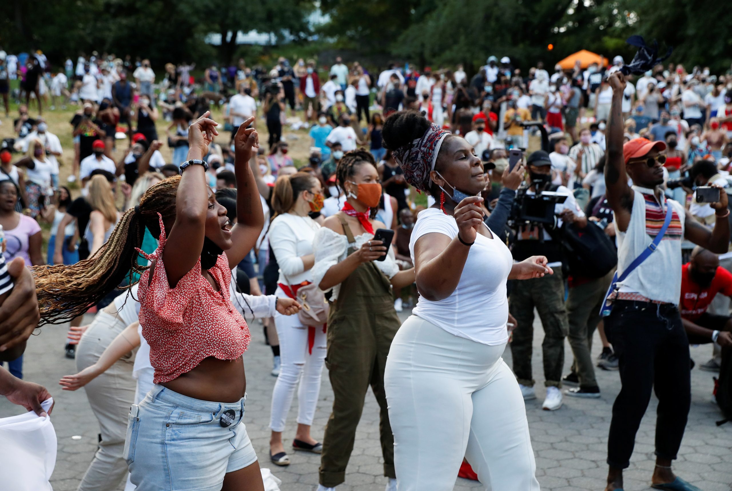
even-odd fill
[{"label": "woman with long swinging braids, red crop top, arms raised", "polygon": [[[201,159],[218,134],[206,112],[189,128],[182,177],[146,191],[89,259],[34,271],[45,324],[75,317],[144,270],[140,323],[155,385],[132,405],[123,451],[140,491],[264,490],[242,424],[249,329],[229,290],[231,268],[254,246],[264,222],[249,169],[258,147],[256,131],[247,129],[253,119],[234,139],[238,223],[231,229],[225,207],[206,185]],[[149,268],[137,262],[146,228],[160,241]]]}]

